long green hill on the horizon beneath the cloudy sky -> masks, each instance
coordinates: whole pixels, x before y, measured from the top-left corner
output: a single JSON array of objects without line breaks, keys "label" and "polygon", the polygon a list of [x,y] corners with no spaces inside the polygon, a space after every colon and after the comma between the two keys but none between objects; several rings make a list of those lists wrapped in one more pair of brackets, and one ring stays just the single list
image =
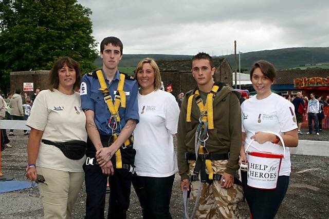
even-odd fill
[{"label": "long green hill on the horizon beneath the cloudy sky", "polygon": [[[135,67],[138,62],[145,57],[152,57],[155,60],[161,59],[186,59],[192,55],[165,55],[165,54],[124,54],[120,62],[121,67]],[[222,57],[222,56],[221,56]],[[232,69],[234,69],[234,54],[224,55],[228,59]],[[246,52],[241,54],[241,68],[250,70],[252,64],[259,59],[265,59],[276,66],[278,70],[289,68],[307,68],[305,64],[315,65],[317,63],[329,63],[329,47],[299,47],[275,50],[263,50]],[[237,65],[239,65],[239,55],[237,55]],[[102,59],[95,60],[94,65],[102,66]],[[309,66],[308,66],[309,67]],[[313,67],[313,66],[312,66]],[[320,67],[320,66],[315,66]],[[322,66],[320,68],[326,68]],[[237,66],[239,70],[239,66]]]}]

